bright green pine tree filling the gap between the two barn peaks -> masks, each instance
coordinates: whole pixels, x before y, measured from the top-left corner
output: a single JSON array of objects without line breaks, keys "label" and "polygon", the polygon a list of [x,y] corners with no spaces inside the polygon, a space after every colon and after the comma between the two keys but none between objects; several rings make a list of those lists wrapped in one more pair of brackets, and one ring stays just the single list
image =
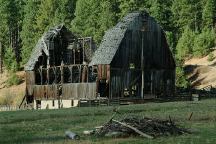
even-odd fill
[{"label": "bright green pine tree filling the gap between the two barn peaks", "polygon": [[116,21],[113,7],[114,4],[108,0],[78,0],[76,17],[71,23],[72,31],[82,36],[93,36],[99,44],[105,30]]}]

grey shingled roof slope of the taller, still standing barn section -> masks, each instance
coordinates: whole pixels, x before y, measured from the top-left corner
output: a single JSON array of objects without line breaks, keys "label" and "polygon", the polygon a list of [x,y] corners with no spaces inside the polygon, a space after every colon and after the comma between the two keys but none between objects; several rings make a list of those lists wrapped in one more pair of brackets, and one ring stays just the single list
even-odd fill
[{"label": "grey shingled roof slope of the taller, still standing barn section", "polygon": [[95,51],[92,61],[89,64],[90,66],[110,64],[112,62],[127,29],[140,14],[139,12],[128,14],[115,27],[105,33],[100,47]]}]

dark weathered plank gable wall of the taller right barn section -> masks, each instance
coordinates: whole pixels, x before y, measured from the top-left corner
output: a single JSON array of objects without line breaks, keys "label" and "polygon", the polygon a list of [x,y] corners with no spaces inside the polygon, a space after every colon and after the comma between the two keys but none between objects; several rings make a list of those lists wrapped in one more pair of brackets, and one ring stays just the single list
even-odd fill
[{"label": "dark weathered plank gable wall of the taller right barn section", "polygon": [[[140,25],[140,22],[143,22]],[[142,50],[143,49],[143,50]],[[144,60],[141,55],[143,51]],[[140,97],[144,68],[144,93],[172,95],[175,62],[160,26],[151,18],[138,17],[129,26],[110,65],[110,97]]]}]

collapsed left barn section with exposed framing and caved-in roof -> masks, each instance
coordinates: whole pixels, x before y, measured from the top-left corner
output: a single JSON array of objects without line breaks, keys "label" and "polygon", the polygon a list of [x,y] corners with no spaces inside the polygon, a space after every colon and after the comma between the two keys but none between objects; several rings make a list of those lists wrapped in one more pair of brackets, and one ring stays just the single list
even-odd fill
[{"label": "collapsed left barn section with exposed framing and caved-in roof", "polygon": [[27,103],[60,108],[76,106],[79,99],[94,99],[96,76],[88,67],[94,49],[90,37],[77,38],[64,25],[48,30],[25,65]]}]

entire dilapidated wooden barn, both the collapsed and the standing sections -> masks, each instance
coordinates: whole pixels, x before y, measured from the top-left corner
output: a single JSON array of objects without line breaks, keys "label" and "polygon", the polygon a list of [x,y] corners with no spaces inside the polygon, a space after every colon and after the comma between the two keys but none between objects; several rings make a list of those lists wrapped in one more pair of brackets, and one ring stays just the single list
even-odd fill
[{"label": "entire dilapidated wooden barn, both the collapsed and the standing sections", "polygon": [[60,108],[80,100],[174,94],[174,58],[163,29],[147,13],[128,14],[94,50],[91,38],[77,38],[63,25],[50,29],[25,66],[27,102],[35,108]]}]

